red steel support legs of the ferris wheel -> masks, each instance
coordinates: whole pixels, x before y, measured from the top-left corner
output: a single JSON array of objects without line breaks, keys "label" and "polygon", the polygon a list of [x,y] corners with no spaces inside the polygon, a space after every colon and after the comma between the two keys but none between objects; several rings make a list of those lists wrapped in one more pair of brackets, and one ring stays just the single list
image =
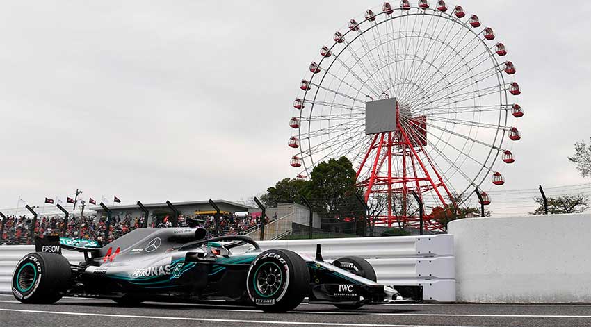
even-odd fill
[{"label": "red steel support legs of the ferris wheel", "polygon": [[[423,151],[423,146],[426,146],[427,117],[419,116],[401,119],[397,101],[394,110],[396,110],[396,130],[374,134],[371,145],[367,149],[361,165],[357,168],[356,176],[357,186],[365,190],[364,199],[366,202],[369,201],[371,194],[387,194],[387,215],[378,215],[375,219],[387,224],[389,227],[396,221],[405,221],[410,224],[419,221],[419,216],[409,215],[407,212],[406,199],[413,191],[421,199],[423,193],[435,192],[437,201],[439,201],[442,208],[445,208],[446,203],[453,201],[452,193],[446,186],[441,174],[439,174],[437,167],[435,167],[428,153]],[[406,124],[406,122],[409,124]],[[423,153],[422,159],[419,153]],[[393,157],[396,156],[401,158],[402,176],[392,174]],[[359,180],[359,176],[370,158],[373,160],[371,174]],[[387,164],[385,174],[381,172],[384,162]],[[392,201],[393,194],[400,194],[402,200],[403,208],[398,213]],[[442,229],[441,224],[432,220],[430,215],[423,217],[423,220],[427,229]]]}]

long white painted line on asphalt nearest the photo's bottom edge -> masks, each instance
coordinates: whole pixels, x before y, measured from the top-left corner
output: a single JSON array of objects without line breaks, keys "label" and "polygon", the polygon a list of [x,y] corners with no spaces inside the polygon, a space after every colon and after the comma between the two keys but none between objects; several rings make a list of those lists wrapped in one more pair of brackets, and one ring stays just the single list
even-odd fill
[{"label": "long white painted line on asphalt nearest the photo's bottom edge", "polygon": [[316,322],[316,321],[268,321],[268,320],[245,320],[245,319],[209,319],[209,318],[191,318],[191,317],[156,317],[156,316],[138,316],[138,315],[108,315],[102,313],[83,313],[83,312],[63,312],[63,311],[42,311],[42,310],[16,310],[16,309],[2,309],[0,311],[8,312],[26,312],[26,313],[43,313],[50,315],[74,315],[74,316],[91,316],[91,317],[116,317],[116,318],[133,318],[133,319],[163,319],[163,320],[185,320],[185,321],[213,321],[226,322],[237,324],[275,324],[275,325],[305,325],[305,326],[364,326],[364,327],[460,327],[460,326],[426,326],[426,325],[392,325],[392,324],[346,324],[338,322]]}]

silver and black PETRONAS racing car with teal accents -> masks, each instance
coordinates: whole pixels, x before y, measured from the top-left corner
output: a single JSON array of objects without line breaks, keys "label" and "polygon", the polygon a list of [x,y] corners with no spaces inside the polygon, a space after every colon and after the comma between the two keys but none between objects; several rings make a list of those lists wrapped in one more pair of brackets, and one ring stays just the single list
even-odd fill
[{"label": "silver and black PETRONAS racing car with teal accents", "polygon": [[[120,305],[143,301],[204,303],[228,301],[265,312],[309,303],[355,309],[365,304],[418,302],[420,286],[376,283],[368,261],[345,257],[325,262],[286,249],[262,251],[245,235],[206,237],[193,228],[138,228],[101,246],[61,237],[44,240],[38,252],[19,260],[12,292],[22,303],[55,303],[62,296],[112,299]],[[84,253],[70,263],[61,250]]]}]

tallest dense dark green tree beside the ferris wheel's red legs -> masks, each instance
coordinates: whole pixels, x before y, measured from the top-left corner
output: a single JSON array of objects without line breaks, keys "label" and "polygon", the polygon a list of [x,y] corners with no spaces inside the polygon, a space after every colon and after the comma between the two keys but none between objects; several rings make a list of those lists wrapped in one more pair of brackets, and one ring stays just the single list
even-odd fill
[{"label": "tallest dense dark green tree beside the ferris wheel's red legs", "polygon": [[350,203],[355,191],[355,170],[346,157],[316,165],[307,185],[307,196],[322,213],[338,212],[339,204]]}]

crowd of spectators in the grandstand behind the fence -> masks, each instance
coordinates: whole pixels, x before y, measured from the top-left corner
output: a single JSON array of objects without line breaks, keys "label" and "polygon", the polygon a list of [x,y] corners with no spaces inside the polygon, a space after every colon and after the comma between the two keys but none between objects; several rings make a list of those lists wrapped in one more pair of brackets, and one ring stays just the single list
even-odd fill
[{"label": "crowd of spectators in the grandstand behind the fence", "polygon": [[[74,239],[97,240],[102,243],[111,242],[131,230],[143,226],[144,217],[131,217],[131,215],[115,215],[111,219],[108,238],[105,239],[106,217],[85,215],[83,217],[70,217],[64,221],[64,217],[57,215],[38,217],[33,235],[44,237],[45,235],[59,235]],[[178,227],[188,226],[188,219],[195,219],[198,224],[207,229],[209,236],[214,235],[238,235],[248,233],[249,230],[257,228],[261,223],[260,215],[234,215],[225,214],[220,216],[219,226],[216,226],[216,219],[211,215],[180,215]],[[273,217],[275,219],[275,217]],[[7,216],[5,221],[0,220],[0,244],[32,244],[31,224],[33,220],[26,216]],[[266,217],[266,222],[269,219]],[[152,228],[175,227],[172,226],[170,216],[152,217],[149,226]]]}]

